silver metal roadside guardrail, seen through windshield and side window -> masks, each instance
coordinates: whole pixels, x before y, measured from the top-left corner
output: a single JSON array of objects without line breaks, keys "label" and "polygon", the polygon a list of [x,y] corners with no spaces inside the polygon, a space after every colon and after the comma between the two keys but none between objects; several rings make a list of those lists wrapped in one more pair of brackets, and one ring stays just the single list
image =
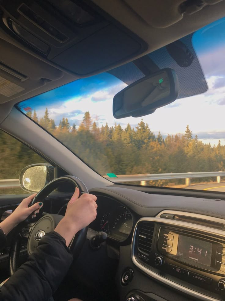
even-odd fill
[{"label": "silver metal roadside guardrail, seen through windshield and side window", "polygon": [[[104,176],[115,183],[123,182],[141,182],[146,185],[146,181],[151,180],[170,180],[170,179],[186,179],[186,186],[190,185],[192,178],[216,177],[217,183],[220,183],[220,177],[225,176],[225,172],[178,172],[178,173],[159,173],[159,174],[141,174],[141,175],[119,175],[116,178]],[[19,179],[0,180],[0,188],[17,188],[20,187]]]}]

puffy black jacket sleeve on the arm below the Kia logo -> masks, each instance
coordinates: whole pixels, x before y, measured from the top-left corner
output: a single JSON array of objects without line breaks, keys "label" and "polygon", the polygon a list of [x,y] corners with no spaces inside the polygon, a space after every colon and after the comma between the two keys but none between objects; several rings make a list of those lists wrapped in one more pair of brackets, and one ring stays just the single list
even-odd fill
[{"label": "puffy black jacket sleeve on the arm below the Kia logo", "polygon": [[0,300],[46,301],[56,291],[73,261],[65,239],[47,233],[27,262],[0,289]]}]

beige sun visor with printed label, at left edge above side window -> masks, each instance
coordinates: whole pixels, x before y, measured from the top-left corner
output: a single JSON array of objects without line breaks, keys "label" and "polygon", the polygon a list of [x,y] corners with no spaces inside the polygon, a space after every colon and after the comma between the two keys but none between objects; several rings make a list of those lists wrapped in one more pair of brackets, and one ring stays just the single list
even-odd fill
[{"label": "beige sun visor with printed label, at left edge above side window", "polygon": [[60,79],[63,72],[1,40],[0,103]]}]

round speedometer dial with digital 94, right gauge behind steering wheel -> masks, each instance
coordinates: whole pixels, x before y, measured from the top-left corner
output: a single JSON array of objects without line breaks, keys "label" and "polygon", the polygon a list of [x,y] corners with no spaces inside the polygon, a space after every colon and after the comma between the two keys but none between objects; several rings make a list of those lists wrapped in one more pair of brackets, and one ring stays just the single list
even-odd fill
[{"label": "round speedometer dial with digital 94, right gauge behind steering wheel", "polygon": [[124,207],[119,207],[112,215],[109,225],[110,235],[121,237],[121,240],[131,233],[133,219],[129,210]]}]

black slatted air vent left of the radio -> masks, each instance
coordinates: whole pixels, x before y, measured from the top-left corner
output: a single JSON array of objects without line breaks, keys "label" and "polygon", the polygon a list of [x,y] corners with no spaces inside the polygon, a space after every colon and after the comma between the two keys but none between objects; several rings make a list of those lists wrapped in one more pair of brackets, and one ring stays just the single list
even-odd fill
[{"label": "black slatted air vent left of the radio", "polygon": [[150,222],[142,222],[138,231],[138,251],[149,255],[152,246],[152,239],[155,224]]}]

